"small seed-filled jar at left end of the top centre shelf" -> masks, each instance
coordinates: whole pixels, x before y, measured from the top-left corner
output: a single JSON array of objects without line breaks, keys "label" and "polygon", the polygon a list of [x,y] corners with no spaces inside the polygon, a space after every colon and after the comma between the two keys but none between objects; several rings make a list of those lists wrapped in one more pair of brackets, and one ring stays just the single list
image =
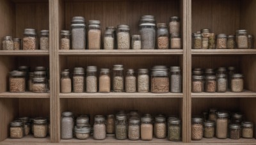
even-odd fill
[{"label": "small seed-filled jar at left end of the top centre shelf", "polygon": [[60,31],[60,49],[70,50],[70,31]]}]

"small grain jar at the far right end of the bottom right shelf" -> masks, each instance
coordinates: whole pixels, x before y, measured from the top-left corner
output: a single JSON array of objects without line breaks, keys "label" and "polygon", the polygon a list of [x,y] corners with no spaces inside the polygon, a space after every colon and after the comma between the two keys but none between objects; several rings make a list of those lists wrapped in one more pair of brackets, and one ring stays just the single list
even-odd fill
[{"label": "small grain jar at the far right end of the bottom right shelf", "polygon": [[241,123],[242,137],[246,139],[252,139],[253,137],[253,123],[249,121],[243,121]]}]

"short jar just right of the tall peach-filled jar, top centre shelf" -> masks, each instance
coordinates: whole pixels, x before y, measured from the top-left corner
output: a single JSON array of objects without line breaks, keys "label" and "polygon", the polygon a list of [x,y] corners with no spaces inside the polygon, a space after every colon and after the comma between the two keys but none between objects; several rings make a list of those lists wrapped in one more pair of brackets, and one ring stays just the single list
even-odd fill
[{"label": "short jar just right of the tall peach-filled jar, top centre shelf", "polygon": [[113,50],[115,49],[115,35],[114,31],[108,30],[104,32],[104,50]]}]

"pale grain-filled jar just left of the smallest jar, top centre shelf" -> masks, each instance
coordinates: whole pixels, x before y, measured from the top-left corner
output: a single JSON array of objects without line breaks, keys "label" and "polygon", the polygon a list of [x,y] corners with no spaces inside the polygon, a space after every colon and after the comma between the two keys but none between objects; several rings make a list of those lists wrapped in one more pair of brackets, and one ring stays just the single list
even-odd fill
[{"label": "pale grain-filled jar just left of the smallest jar, top centre shelf", "polygon": [[117,26],[117,49],[129,50],[130,49],[130,29],[128,25]]}]

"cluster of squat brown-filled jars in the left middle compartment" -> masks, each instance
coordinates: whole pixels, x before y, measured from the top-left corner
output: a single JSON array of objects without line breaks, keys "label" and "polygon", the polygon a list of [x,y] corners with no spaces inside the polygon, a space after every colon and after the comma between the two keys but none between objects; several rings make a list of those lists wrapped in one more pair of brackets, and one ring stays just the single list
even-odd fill
[{"label": "cluster of squat brown-filled jars in the left middle compartment", "polygon": [[20,66],[18,71],[9,74],[9,90],[12,93],[49,92],[49,69],[46,67],[35,67],[35,71],[30,72],[30,67]]}]

